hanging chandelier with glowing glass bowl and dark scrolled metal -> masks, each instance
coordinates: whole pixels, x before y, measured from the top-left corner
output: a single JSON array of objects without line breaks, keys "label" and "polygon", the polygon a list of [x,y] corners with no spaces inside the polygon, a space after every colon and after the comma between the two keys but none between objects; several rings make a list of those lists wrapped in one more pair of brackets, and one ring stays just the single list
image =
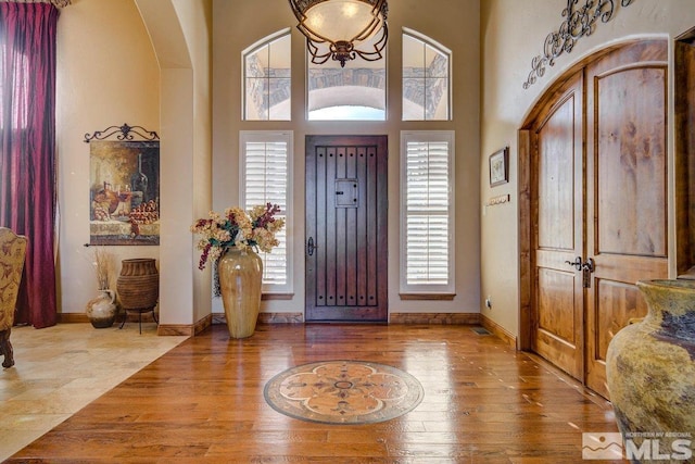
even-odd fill
[{"label": "hanging chandelier with glowing glass bowl and dark scrolled metal", "polygon": [[361,57],[377,61],[383,55],[389,28],[387,0],[289,0],[306,36],[312,63],[329,59],[345,62]]}]

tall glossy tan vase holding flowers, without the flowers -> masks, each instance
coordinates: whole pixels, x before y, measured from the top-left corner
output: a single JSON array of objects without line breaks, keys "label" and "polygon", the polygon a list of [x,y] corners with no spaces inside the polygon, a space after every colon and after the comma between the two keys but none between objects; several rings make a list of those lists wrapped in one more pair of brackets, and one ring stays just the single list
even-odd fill
[{"label": "tall glossy tan vase holding flowers, without the flowers", "polygon": [[263,261],[252,249],[228,249],[217,262],[219,291],[231,338],[251,337],[261,310]]}]

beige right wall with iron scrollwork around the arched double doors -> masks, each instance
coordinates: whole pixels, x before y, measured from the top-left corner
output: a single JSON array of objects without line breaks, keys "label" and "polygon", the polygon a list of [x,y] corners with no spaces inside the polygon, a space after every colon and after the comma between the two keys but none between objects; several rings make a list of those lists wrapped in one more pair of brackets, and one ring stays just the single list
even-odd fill
[{"label": "beige right wall with iron scrollwork around the arched double doors", "polygon": [[[580,2],[583,4],[583,2]],[[547,34],[557,30],[567,2],[555,0],[485,0],[481,2],[482,106],[481,106],[481,297],[490,296],[492,310],[481,312],[508,331],[518,335],[519,244],[517,129],[544,89],[581,58],[611,42],[634,37],[673,37],[695,26],[692,0],[635,0],[628,8],[617,5],[612,21],[596,23],[595,32],[581,38],[571,53],[563,54],[555,66],[525,90],[522,84],[531,71],[531,60],[542,52]],[[672,55],[672,51],[670,52]],[[672,58],[669,74],[673,75]],[[672,79],[672,77],[671,77]],[[672,80],[671,80],[672,81]],[[670,91],[672,101],[672,89]],[[673,110],[668,118],[672,121]],[[672,130],[672,128],[671,128]],[[669,156],[672,160],[672,137]],[[488,156],[498,148],[510,146],[510,181],[490,188]],[[671,161],[672,163],[672,161]],[[671,170],[672,172],[672,170]],[[670,191],[672,192],[672,181]],[[510,203],[484,208],[491,197],[509,193]],[[672,206],[672,205],[671,205]],[[669,214],[673,217],[673,214]],[[670,225],[671,258],[673,226]],[[673,268],[673,265],[671,265]]]}]

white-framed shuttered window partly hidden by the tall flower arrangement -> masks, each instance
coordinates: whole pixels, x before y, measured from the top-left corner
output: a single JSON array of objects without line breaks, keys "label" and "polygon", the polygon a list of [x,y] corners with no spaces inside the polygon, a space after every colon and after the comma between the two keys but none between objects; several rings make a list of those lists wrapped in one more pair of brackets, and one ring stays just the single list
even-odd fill
[{"label": "white-framed shuttered window partly hidden by the tall flower arrangement", "polygon": [[280,214],[277,217],[286,221],[285,228],[276,236],[280,244],[270,253],[260,253],[263,259],[263,291],[291,293],[292,133],[241,131],[240,145],[241,204],[247,210],[268,202],[278,204]]}]

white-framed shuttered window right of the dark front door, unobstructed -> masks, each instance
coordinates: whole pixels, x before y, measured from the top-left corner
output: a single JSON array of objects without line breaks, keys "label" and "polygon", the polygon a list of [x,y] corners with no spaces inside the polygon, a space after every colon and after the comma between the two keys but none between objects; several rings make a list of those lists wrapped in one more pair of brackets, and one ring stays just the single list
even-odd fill
[{"label": "white-framed shuttered window right of the dark front door, unobstructed", "polygon": [[401,293],[454,293],[454,133],[401,133]]}]

